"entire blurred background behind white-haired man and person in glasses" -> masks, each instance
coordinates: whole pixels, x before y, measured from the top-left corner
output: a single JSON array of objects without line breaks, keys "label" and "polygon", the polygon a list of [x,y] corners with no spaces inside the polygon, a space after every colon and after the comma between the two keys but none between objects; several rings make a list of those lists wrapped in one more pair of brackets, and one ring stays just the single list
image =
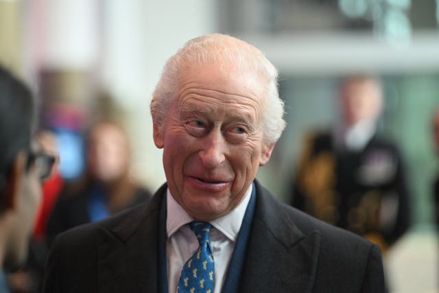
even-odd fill
[{"label": "entire blurred background behind white-haired man and person in glasses", "polygon": [[379,244],[390,292],[438,292],[438,0],[0,0],[0,63],[38,95],[38,140],[60,154],[13,292],[38,292],[57,233],[165,181],[151,94],[211,32],[279,70],[287,128],[263,185]]}]

